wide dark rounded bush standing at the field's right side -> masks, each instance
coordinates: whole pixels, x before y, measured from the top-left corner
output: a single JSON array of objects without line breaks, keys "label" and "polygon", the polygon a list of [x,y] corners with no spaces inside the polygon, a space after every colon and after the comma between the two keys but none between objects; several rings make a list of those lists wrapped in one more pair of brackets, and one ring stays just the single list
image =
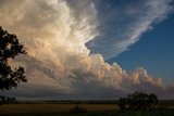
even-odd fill
[{"label": "wide dark rounded bush standing at the field's right side", "polygon": [[158,96],[156,94],[147,94],[141,91],[136,91],[128,94],[127,98],[121,98],[119,100],[119,106],[121,109],[152,109],[157,103]]}]

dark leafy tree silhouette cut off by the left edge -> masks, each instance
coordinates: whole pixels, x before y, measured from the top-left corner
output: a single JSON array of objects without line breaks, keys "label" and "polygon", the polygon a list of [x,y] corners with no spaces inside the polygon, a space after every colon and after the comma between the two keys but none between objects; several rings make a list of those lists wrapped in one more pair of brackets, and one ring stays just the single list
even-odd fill
[{"label": "dark leafy tree silhouette cut off by the left edge", "polygon": [[14,69],[8,63],[9,59],[16,55],[26,54],[23,44],[18,42],[15,35],[9,34],[0,27],[0,90],[11,90],[23,81],[26,82],[23,67]]}]

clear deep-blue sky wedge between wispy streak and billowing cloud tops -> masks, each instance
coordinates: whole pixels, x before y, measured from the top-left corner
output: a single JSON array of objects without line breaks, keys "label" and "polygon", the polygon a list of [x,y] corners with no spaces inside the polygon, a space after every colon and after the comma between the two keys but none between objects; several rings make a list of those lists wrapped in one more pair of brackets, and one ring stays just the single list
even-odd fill
[{"label": "clear deep-blue sky wedge between wispy streak and billowing cloud tops", "polygon": [[142,66],[151,75],[160,76],[165,82],[174,82],[174,15],[145,33],[141,39],[108,62],[117,62],[124,69]]}]

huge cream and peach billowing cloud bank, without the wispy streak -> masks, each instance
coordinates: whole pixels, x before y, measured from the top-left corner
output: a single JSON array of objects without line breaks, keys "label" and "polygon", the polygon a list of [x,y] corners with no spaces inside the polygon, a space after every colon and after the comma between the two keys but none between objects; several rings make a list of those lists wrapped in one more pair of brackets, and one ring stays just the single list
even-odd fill
[{"label": "huge cream and peach billowing cloud bank, without the wispy streak", "polygon": [[85,43],[103,36],[98,18],[91,0],[1,0],[0,25],[16,34],[28,52],[11,62],[25,67],[28,82],[3,93],[35,99],[114,99],[144,90],[163,96],[159,92],[164,90],[162,80],[146,69],[127,73],[116,63],[105,63],[101,54],[89,54]]}]

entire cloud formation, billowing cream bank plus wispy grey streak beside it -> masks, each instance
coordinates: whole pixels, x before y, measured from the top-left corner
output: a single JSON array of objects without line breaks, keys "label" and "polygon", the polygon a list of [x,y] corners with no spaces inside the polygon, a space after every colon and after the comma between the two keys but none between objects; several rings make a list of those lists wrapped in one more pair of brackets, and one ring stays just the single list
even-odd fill
[{"label": "entire cloud formation, billowing cream bank plus wispy grey streak beside it", "polygon": [[[10,61],[14,67],[25,67],[28,82],[3,93],[20,99],[116,99],[144,90],[174,96],[169,92],[172,86],[164,87],[142,67],[127,73],[103,59],[126,50],[166,16],[170,1],[158,1],[126,5],[123,13],[115,7],[109,13],[105,7],[110,5],[91,0],[1,0],[0,25],[17,35],[28,52]],[[144,14],[141,9],[149,12]],[[125,16],[119,18],[121,14]],[[121,26],[127,17],[130,22]]]}]

